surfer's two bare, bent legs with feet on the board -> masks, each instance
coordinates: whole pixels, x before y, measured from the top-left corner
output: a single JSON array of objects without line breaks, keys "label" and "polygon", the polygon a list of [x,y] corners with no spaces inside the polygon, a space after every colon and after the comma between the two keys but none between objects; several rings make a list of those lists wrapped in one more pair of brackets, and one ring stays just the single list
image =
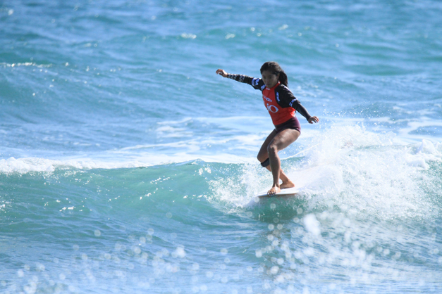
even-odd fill
[{"label": "surfer's two bare, bent legs with feet on the board", "polygon": [[[286,142],[290,141],[290,143],[293,143],[293,141],[295,141],[297,139],[297,137],[300,135],[300,133],[297,132],[294,129],[284,130],[283,132],[286,132],[286,131],[289,131],[288,134],[282,136],[283,141],[286,141]],[[283,132],[281,132],[281,133],[283,133]],[[264,160],[266,160],[267,158],[269,158],[270,162],[271,162],[271,158],[269,156],[268,149],[270,147],[270,144],[272,142],[274,143],[274,139],[275,139],[276,136],[278,137],[277,141],[281,141],[281,133],[276,134],[276,131],[274,130],[273,132],[271,132],[269,134],[269,136],[267,136],[267,138],[264,141],[264,143],[262,143],[261,149],[259,150],[259,153],[258,153],[258,156],[257,156],[259,162],[264,162]],[[286,137],[288,137],[288,139]],[[278,151],[282,150],[283,148],[286,148],[288,145],[290,145],[290,143],[288,143],[286,146],[284,146],[284,144],[283,144],[283,146],[279,146]],[[287,175],[281,170],[281,161],[279,161],[279,157],[278,157],[277,151],[276,151],[276,156],[278,158],[277,162],[278,162],[278,166],[279,166],[279,168],[277,169],[277,170],[279,170],[279,172],[278,172],[279,176],[276,179],[276,182],[278,184],[278,188],[280,188],[280,191],[281,191],[281,188],[292,188],[292,187],[294,187],[295,184],[293,184],[293,181],[290,181],[290,179],[288,179]],[[266,169],[269,170],[269,171],[272,171],[271,170],[271,165],[267,166]],[[274,177],[275,177],[275,174],[274,174]],[[281,185],[279,185],[279,179],[282,180],[282,184]],[[274,182],[275,182],[275,178],[274,178]]]}]

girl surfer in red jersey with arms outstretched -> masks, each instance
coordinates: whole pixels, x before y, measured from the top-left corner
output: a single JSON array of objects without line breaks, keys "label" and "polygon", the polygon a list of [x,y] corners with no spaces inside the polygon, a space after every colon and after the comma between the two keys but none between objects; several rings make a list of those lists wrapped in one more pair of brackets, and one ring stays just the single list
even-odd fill
[{"label": "girl surfer in red jersey with arms outstretched", "polygon": [[[281,170],[278,151],[296,141],[301,134],[301,125],[295,116],[296,111],[305,117],[310,124],[319,122],[319,118],[309,115],[307,109],[293,96],[292,91],[288,89],[286,72],[274,61],[268,61],[262,65],[262,79],[247,75],[233,75],[221,69],[216,70],[216,74],[250,84],[254,89],[262,91],[264,106],[269,110],[275,126],[275,129],[262,143],[257,155],[261,165],[273,174],[274,184],[267,193],[274,195],[280,192],[281,188],[294,187],[293,181],[290,181]],[[281,185],[279,179],[282,181]]]}]

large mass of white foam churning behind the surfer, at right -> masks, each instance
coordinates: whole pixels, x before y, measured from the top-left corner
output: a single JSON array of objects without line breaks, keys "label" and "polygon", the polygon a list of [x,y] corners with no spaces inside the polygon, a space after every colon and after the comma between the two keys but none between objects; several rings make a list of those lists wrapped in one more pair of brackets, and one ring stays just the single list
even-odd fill
[{"label": "large mass of white foam churning behind the surfer, at right", "polygon": [[[311,189],[312,209],[337,206],[383,219],[424,217],[431,211],[421,188],[422,170],[429,161],[441,161],[442,153],[430,141],[400,146],[393,134],[348,126],[331,128],[312,143],[319,146],[307,151],[307,169],[289,173]],[[312,173],[316,177],[309,177]]]}]

